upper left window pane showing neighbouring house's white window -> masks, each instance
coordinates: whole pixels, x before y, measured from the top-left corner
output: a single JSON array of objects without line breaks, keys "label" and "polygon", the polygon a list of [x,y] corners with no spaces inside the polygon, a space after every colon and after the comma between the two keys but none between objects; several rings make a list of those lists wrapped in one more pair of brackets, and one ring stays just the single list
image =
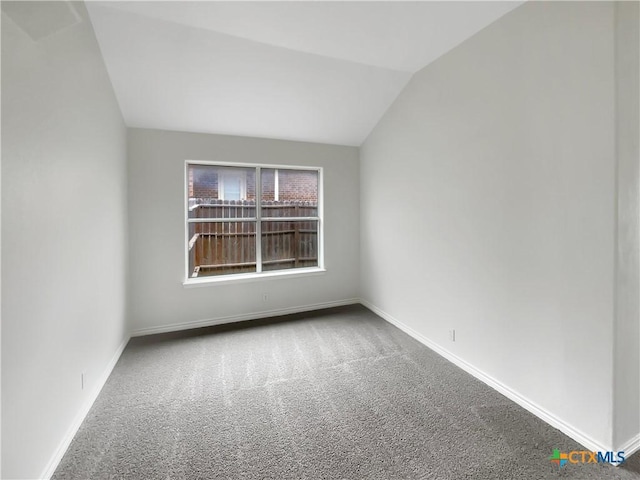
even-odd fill
[{"label": "upper left window pane showing neighbouring house's white window", "polygon": [[[220,167],[215,165],[188,165],[187,187],[189,191],[189,217],[191,218],[232,218],[224,211],[203,210],[206,205],[229,205],[242,202],[255,205],[255,168]],[[207,215],[218,213],[220,216]],[[226,212],[227,214],[230,212]],[[231,212],[236,218],[253,217]],[[238,213],[238,215],[236,215]],[[245,212],[246,213],[246,212]]]}]

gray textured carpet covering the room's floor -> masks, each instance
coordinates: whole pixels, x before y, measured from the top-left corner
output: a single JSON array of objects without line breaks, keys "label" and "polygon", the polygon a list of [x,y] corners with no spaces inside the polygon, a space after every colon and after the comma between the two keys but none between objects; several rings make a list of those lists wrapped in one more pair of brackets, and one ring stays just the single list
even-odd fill
[{"label": "gray textured carpet covering the room's floor", "polygon": [[640,479],[363,307],[133,339],[55,479]]}]

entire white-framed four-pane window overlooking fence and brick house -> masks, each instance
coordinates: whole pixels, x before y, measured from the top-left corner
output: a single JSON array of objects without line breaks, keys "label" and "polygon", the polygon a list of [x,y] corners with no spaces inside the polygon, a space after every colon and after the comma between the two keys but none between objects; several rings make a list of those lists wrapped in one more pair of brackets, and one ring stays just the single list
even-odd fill
[{"label": "entire white-framed four-pane window overlooking fence and brick house", "polygon": [[186,163],[187,283],[322,267],[322,170]]}]

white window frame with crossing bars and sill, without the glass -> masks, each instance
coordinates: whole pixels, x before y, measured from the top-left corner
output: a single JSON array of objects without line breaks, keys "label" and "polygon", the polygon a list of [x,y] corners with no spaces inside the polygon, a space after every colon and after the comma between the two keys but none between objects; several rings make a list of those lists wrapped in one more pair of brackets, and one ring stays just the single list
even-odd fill
[{"label": "white window frame with crossing bars and sill, without the glass", "polygon": [[[229,219],[202,219],[202,218],[189,218],[189,211],[192,208],[189,205],[189,165],[207,165],[215,167],[237,167],[240,168],[253,168],[256,174],[256,216],[249,218],[238,219],[243,222],[255,222],[256,225],[256,271],[251,273],[234,273],[219,276],[210,277],[196,277],[192,278],[189,275],[189,224],[197,222],[211,222],[211,221],[229,221]],[[305,221],[314,220],[318,222],[318,265],[316,267],[305,268],[289,268],[283,270],[268,270],[262,271],[262,222],[263,221],[282,221],[283,217],[263,217],[262,216],[262,169],[275,169],[276,172],[279,169],[285,170],[308,170],[318,172],[318,215],[315,217],[286,217],[288,221]],[[238,170],[240,171],[240,170]],[[293,276],[309,276],[318,275],[326,272],[324,266],[324,175],[322,167],[309,167],[299,165],[272,165],[263,163],[232,163],[232,162],[215,162],[210,160],[185,160],[184,164],[184,281],[182,282],[185,287],[192,286],[206,286],[220,283],[231,282],[250,282],[276,278],[288,278]],[[220,195],[221,177],[218,177],[218,196]],[[244,196],[246,197],[246,179],[244,182]]]}]

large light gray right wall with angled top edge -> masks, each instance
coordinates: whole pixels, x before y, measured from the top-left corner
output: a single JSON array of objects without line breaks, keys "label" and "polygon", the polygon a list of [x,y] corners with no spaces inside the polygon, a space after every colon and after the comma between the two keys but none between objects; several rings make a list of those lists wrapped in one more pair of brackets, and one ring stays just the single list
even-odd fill
[{"label": "large light gray right wall with angled top edge", "polygon": [[614,5],[527,3],[417,73],[360,163],[363,299],[603,447],[614,91]]}]

